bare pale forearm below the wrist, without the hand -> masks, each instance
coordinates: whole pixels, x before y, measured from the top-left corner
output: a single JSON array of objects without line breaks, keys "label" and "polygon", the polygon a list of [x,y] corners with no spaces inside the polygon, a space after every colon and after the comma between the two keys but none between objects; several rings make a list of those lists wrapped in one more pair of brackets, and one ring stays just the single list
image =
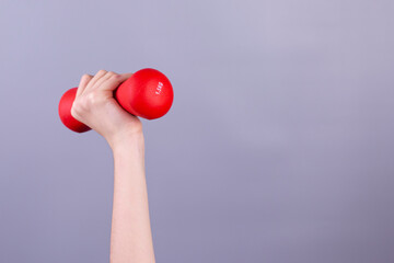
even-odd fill
[{"label": "bare pale forearm below the wrist, without the hand", "polygon": [[112,146],[114,201],[111,263],[153,263],[142,133]]}]

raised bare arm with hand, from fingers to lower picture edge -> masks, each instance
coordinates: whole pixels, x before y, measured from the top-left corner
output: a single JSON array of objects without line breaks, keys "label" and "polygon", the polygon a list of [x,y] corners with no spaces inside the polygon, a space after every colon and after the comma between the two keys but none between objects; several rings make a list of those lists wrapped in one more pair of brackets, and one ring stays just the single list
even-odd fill
[{"label": "raised bare arm with hand, from fingers to lower picture edge", "polygon": [[115,101],[113,91],[132,73],[83,75],[71,115],[108,142],[114,157],[111,263],[154,263],[140,119]]}]

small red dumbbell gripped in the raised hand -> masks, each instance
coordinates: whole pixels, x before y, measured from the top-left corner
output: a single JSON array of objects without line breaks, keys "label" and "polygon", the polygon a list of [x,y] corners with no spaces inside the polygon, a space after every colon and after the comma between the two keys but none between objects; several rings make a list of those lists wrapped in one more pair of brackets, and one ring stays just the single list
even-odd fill
[{"label": "small red dumbbell gripped in the raised hand", "polygon": [[[91,128],[71,115],[71,106],[78,88],[68,90],[59,102],[61,122],[77,133]],[[153,119],[162,117],[170,111],[174,100],[174,91],[170,80],[159,70],[146,68],[138,70],[114,91],[119,105],[132,115]]]}]

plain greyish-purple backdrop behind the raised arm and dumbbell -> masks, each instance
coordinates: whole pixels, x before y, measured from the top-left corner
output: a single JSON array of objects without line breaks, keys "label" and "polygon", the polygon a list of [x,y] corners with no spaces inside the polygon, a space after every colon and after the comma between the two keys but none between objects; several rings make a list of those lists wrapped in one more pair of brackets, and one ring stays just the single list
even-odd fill
[{"label": "plain greyish-purple backdrop behind the raised arm and dumbbell", "polygon": [[108,262],[113,159],[61,94],[163,71],[158,262],[394,262],[394,2],[0,1],[0,262]]}]

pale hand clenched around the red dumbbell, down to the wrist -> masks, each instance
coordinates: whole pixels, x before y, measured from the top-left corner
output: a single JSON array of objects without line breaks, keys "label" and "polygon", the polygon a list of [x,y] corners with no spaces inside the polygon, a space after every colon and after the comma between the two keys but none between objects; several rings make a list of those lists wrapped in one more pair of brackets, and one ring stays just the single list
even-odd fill
[{"label": "pale hand clenched around the red dumbbell, down to the wrist", "polygon": [[114,90],[131,75],[103,69],[94,77],[83,75],[71,107],[71,115],[102,135],[112,148],[125,137],[142,134],[141,121],[114,99]]}]

